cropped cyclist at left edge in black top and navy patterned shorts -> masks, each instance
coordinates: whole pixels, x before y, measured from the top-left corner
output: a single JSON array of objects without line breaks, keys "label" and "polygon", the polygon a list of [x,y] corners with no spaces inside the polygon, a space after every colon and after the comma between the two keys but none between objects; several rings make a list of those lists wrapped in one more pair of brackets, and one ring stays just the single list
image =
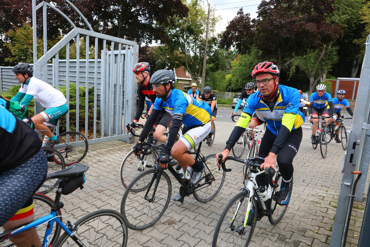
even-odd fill
[{"label": "cropped cyclist at left edge in black top and navy patterned shorts", "polygon": [[[41,139],[0,103],[0,226],[4,230],[34,220],[33,193],[47,173]],[[41,246],[36,229],[14,235],[16,246]]]}]

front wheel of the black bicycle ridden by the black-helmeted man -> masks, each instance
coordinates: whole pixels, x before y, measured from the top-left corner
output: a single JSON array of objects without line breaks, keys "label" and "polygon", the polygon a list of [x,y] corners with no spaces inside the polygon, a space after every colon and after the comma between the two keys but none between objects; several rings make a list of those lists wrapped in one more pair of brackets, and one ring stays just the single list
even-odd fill
[{"label": "front wheel of the black bicycle ridden by the black-helmeted man", "polygon": [[[121,201],[121,215],[127,226],[132,230],[144,230],[157,222],[165,213],[171,198],[172,185],[166,172],[162,172],[160,181],[157,181],[157,169],[150,169],[140,173],[126,189]],[[148,181],[152,183],[149,184]],[[153,191],[155,184],[158,187]],[[132,188],[144,188],[134,192]]]}]

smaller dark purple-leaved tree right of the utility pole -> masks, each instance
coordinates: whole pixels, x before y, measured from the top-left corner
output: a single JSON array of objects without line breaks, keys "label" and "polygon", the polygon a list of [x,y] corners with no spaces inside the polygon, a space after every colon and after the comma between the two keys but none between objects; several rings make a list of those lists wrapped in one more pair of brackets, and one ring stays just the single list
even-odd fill
[{"label": "smaller dark purple-leaved tree right of the utility pole", "polygon": [[239,9],[237,15],[228,23],[226,30],[221,34],[220,46],[223,48],[235,47],[240,54],[246,54],[254,46],[254,24],[249,13]]}]

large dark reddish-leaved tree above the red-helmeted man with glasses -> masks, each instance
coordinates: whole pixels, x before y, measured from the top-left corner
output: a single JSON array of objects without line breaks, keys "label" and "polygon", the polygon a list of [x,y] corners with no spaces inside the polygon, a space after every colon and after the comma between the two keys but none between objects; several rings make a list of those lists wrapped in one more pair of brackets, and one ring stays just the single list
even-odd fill
[{"label": "large dark reddish-leaved tree above the red-helmeted man with glasses", "polygon": [[281,69],[284,61],[336,40],[340,26],[327,21],[334,0],[263,0],[258,6],[256,46]]}]

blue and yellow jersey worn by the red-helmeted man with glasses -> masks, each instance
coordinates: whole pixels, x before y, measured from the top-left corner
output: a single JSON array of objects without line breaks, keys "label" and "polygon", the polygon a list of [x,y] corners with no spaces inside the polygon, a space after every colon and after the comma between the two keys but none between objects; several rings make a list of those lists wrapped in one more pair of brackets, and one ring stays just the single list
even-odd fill
[{"label": "blue and yellow jersey worn by the red-helmeted man with glasses", "polygon": [[279,95],[273,110],[263,102],[260,92],[254,93],[246,100],[243,113],[236,126],[246,128],[253,112],[267,124],[267,128],[277,135],[284,125],[289,131],[297,129],[305,122],[305,116],[299,111],[299,92],[293,87],[279,85]]}]

